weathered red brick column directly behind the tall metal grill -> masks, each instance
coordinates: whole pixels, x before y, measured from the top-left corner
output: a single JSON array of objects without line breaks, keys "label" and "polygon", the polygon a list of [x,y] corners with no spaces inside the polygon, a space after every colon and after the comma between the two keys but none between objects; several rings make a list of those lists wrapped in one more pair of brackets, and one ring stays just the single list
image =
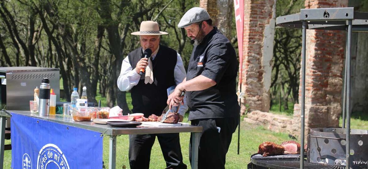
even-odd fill
[{"label": "weathered red brick column directly behind the tall metal grill", "polygon": [[[347,7],[347,3],[346,0],[305,0],[305,8]],[[345,34],[345,31],[307,30],[305,134],[311,128],[339,126]],[[294,105],[294,120],[294,134],[300,135],[300,104]]]}]

